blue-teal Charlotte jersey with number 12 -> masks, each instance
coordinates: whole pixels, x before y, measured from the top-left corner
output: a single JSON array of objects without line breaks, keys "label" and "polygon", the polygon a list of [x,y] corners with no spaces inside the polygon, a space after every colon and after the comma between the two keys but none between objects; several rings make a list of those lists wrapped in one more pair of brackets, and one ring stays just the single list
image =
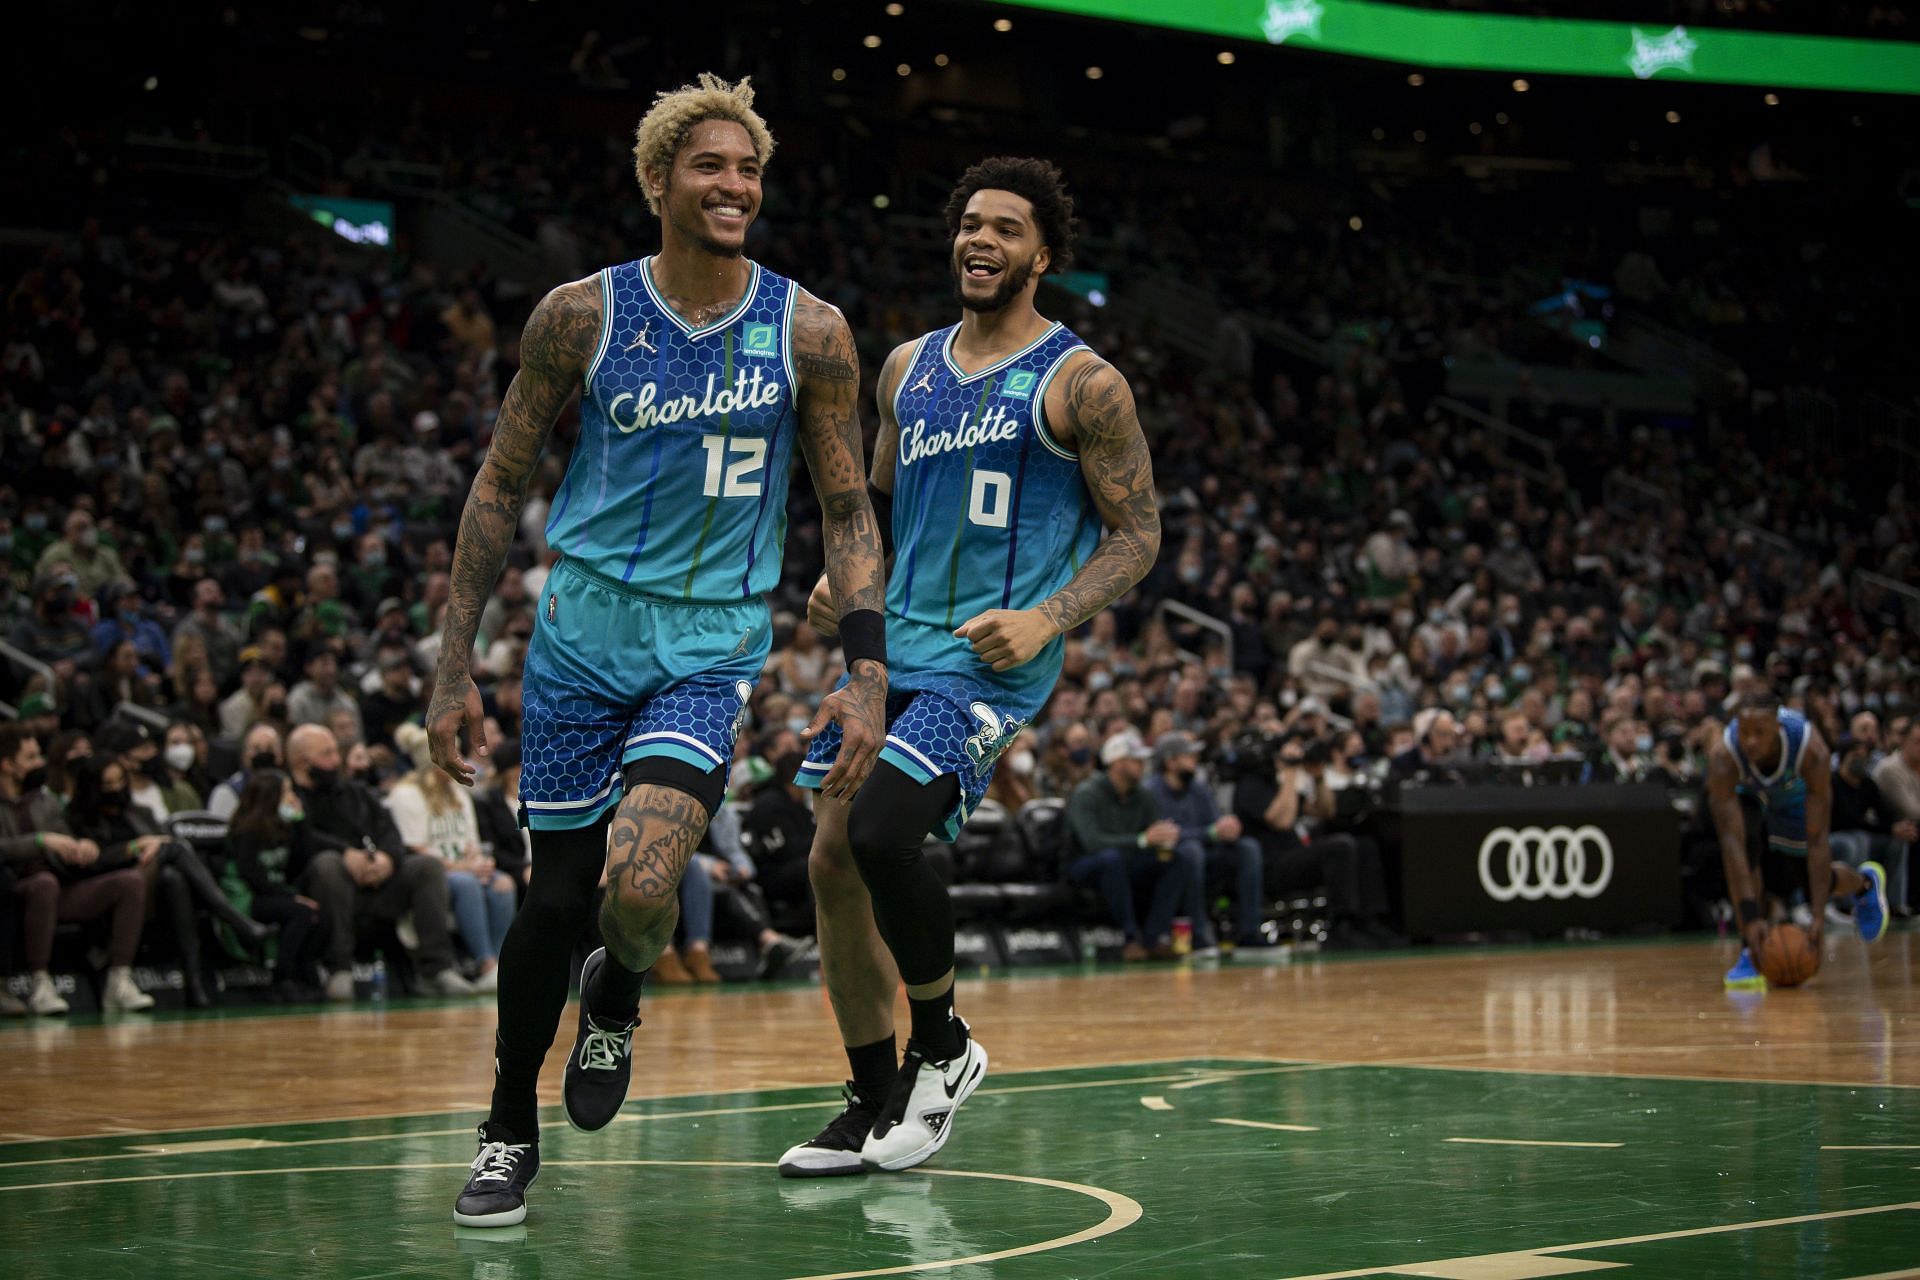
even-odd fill
[{"label": "blue-teal Charlotte jersey with number 12", "polygon": [[651,265],[599,273],[605,328],[547,543],[647,595],[764,595],[787,537],[799,286],[751,263],[739,303],[693,328]]}]

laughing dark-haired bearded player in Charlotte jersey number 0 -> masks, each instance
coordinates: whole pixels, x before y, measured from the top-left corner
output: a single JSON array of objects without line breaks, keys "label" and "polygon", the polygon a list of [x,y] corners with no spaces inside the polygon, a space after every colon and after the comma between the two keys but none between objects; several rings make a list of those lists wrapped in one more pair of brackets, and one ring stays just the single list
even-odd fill
[{"label": "laughing dark-haired bearded player in Charlotte jersey number 0", "polygon": [[[922,858],[979,806],[995,760],[1052,693],[1062,637],[1125,595],[1160,551],[1154,466],[1127,380],[1033,309],[1066,267],[1073,201],[1039,159],[987,159],[947,201],[960,322],[879,374],[874,509],[893,533],[887,745],[849,804],[812,739],[822,787],[808,871],[820,958],[852,1065],[847,1109],[787,1151],[789,1176],[910,1169],[947,1142],[987,1054],[954,1015],[954,915]],[[1102,528],[1106,537],[1102,537]],[[839,585],[810,618],[831,633]],[[841,624],[845,635],[845,624]],[[893,990],[912,1029],[895,1063]]]}]

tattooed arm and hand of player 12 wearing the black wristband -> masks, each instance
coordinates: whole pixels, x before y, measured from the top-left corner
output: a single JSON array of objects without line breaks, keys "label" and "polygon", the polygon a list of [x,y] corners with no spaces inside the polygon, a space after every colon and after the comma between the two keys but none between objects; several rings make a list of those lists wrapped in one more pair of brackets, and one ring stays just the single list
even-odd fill
[{"label": "tattooed arm and hand of player 12 wearing the black wristband", "polygon": [[[793,363],[801,372],[801,451],[820,495],[820,541],[839,618],[856,608],[885,612],[879,524],[860,459],[860,357],[847,317],[801,294],[793,309]],[[847,687],[820,702],[801,737],[812,739],[828,722],[839,723],[843,737],[820,793],[851,798],[874,771],[887,737],[887,668],[872,658],[852,662]]]}]

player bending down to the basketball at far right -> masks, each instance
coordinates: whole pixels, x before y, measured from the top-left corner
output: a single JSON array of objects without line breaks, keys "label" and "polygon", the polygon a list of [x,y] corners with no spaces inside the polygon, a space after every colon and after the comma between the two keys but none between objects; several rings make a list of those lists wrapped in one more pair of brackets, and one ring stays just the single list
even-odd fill
[{"label": "player bending down to the basketball at far right", "polygon": [[1766,986],[1753,965],[1766,940],[1763,894],[1766,881],[1784,894],[1807,892],[1814,954],[1832,892],[1853,894],[1860,938],[1878,942],[1887,931],[1887,873],[1878,862],[1859,871],[1834,862],[1828,816],[1834,804],[1832,758],[1820,731],[1770,693],[1745,693],[1734,723],[1707,752],[1707,802],[1720,833],[1726,892],[1740,925],[1740,961],[1726,971],[1728,986]]}]

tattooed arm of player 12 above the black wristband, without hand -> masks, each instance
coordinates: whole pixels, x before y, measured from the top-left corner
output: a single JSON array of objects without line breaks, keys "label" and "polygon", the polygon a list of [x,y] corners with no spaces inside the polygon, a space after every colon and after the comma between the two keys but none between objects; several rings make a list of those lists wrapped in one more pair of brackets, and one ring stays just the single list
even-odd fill
[{"label": "tattooed arm of player 12 above the black wristband, without hand", "polygon": [[845,618],[856,608],[885,610],[883,551],[866,497],[860,445],[860,357],[847,319],[803,296],[793,317],[793,363],[801,370],[801,451],[820,495],[822,543],[833,601]]}]

